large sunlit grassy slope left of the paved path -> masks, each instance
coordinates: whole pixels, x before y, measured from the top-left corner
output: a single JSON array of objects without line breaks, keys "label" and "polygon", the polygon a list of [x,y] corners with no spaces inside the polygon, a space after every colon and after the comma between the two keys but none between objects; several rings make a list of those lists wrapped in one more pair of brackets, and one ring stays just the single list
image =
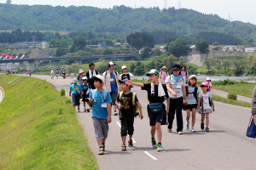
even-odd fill
[{"label": "large sunlit grassy slope left of the paved path", "polygon": [[49,82],[0,75],[0,169],[98,169],[72,105]]}]

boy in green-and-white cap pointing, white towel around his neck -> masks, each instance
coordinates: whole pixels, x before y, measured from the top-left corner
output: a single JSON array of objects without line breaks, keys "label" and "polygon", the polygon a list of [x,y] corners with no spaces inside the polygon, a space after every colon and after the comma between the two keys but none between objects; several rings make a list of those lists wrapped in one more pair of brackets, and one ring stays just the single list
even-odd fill
[{"label": "boy in green-and-white cap pointing, white towel around his neck", "polygon": [[[140,82],[131,82],[127,81],[128,85],[136,85],[142,88],[142,90],[146,90],[148,92],[148,116],[150,120],[151,126],[151,142],[153,148],[157,148],[157,151],[162,151],[162,129],[161,123],[163,122],[165,114],[167,115],[169,112],[169,96],[167,94],[166,85],[162,85],[159,80],[159,71],[152,69],[146,74],[149,78],[151,83],[150,84],[143,84]],[[166,105],[163,104],[165,101],[165,97],[167,100],[167,108]],[[155,132],[157,132],[157,139],[158,144],[154,139]]]}]

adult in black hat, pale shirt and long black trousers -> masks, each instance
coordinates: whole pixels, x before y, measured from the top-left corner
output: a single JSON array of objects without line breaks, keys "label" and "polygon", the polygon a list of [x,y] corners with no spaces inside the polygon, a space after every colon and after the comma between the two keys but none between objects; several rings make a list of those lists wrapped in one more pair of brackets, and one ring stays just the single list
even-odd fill
[{"label": "adult in black hat, pale shirt and long black trousers", "polygon": [[177,133],[183,134],[183,100],[188,105],[186,97],[186,82],[180,74],[180,65],[172,65],[172,73],[166,78],[166,88],[170,97],[170,109],[168,114],[168,133],[172,133],[172,123],[176,111]]}]

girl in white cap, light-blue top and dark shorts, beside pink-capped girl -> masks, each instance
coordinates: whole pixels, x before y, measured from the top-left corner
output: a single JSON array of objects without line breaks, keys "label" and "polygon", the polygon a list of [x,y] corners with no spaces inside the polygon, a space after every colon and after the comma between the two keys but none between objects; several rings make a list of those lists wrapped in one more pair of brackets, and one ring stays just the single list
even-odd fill
[{"label": "girl in white cap, light-blue top and dark shorts, beside pink-capped girl", "polygon": [[186,109],[186,129],[189,130],[189,119],[190,119],[190,112],[192,111],[192,126],[191,126],[191,132],[195,133],[195,111],[197,108],[197,99],[198,99],[198,93],[199,88],[195,86],[197,81],[197,78],[195,75],[191,75],[189,77],[189,86],[186,86],[186,96],[188,105],[184,105],[184,108]]}]

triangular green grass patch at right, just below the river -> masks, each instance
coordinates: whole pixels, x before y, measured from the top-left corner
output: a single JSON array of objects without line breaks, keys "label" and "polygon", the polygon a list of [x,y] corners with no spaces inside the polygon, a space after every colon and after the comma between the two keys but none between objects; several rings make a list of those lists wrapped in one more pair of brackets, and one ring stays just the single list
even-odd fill
[{"label": "triangular green grass patch at right, just below the river", "polygon": [[236,94],[252,98],[255,83],[232,84],[232,85],[212,85],[213,88],[224,90],[226,92],[235,92]]}]

